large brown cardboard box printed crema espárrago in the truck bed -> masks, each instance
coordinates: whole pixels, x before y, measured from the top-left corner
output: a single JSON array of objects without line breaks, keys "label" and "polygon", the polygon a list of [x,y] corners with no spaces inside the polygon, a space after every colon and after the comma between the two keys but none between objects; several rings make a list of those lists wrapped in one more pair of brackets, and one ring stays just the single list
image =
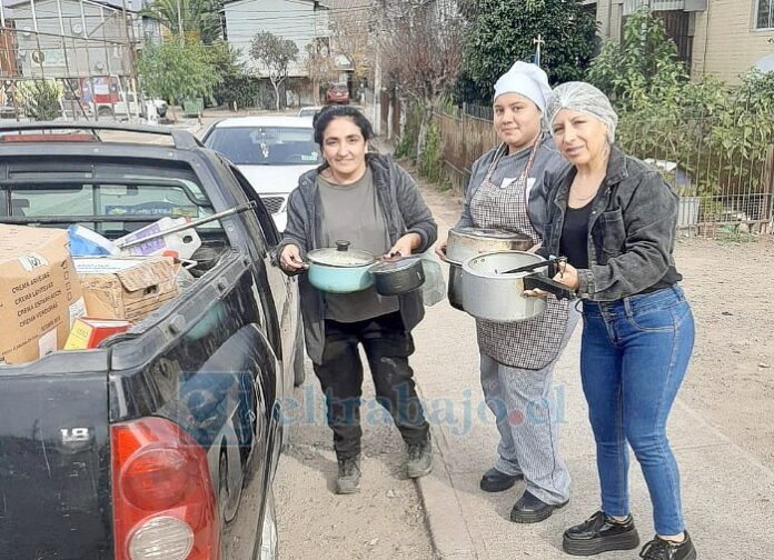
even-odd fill
[{"label": "large brown cardboard box printed crema esp\u00e1rrago in the truck bed", "polygon": [[64,347],[83,314],[66,230],[0,224],[0,362],[24,363]]}]

